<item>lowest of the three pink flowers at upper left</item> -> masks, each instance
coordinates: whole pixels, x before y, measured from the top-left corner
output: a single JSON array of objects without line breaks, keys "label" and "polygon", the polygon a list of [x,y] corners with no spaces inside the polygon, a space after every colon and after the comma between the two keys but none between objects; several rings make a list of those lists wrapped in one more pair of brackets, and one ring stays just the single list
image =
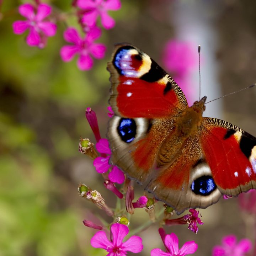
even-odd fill
[{"label": "lowest of the three pink flowers at upper left", "polygon": [[99,38],[101,31],[99,28],[92,28],[85,36],[81,38],[75,28],[68,28],[64,32],[64,39],[73,43],[73,45],[63,46],[60,49],[60,56],[64,62],[69,62],[74,55],[78,54],[78,68],[80,70],[89,70],[92,68],[93,60],[91,55],[96,59],[102,59],[106,52],[106,46],[100,43],[94,43]]}]

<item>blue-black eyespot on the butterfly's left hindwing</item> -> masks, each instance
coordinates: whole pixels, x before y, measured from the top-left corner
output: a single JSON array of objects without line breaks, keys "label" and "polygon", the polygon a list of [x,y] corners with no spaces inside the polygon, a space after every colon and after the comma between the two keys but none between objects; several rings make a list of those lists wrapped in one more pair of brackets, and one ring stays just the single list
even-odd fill
[{"label": "blue-black eyespot on the butterfly's left hindwing", "polygon": [[132,142],[136,135],[135,121],[130,118],[121,118],[117,127],[117,132],[124,142]]}]

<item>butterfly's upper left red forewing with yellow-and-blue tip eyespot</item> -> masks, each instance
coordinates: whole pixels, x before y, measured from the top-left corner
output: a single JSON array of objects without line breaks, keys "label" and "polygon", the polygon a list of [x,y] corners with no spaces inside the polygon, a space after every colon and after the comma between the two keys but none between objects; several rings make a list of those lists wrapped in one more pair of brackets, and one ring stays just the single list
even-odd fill
[{"label": "butterfly's upper left red forewing with yellow-and-blue tip eyespot", "polygon": [[166,118],[188,107],[182,90],[147,54],[130,44],[117,45],[108,62],[110,105],[118,116]]}]

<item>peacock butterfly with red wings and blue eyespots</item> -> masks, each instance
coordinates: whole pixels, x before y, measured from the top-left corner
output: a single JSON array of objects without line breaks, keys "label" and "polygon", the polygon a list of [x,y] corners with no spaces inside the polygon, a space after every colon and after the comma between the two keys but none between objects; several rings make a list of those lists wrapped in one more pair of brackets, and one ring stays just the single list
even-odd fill
[{"label": "peacock butterfly with red wings and blue eyespots", "polygon": [[177,214],[256,188],[256,138],[203,117],[206,96],[188,107],[176,82],[131,44],[116,45],[107,69],[111,164]]}]

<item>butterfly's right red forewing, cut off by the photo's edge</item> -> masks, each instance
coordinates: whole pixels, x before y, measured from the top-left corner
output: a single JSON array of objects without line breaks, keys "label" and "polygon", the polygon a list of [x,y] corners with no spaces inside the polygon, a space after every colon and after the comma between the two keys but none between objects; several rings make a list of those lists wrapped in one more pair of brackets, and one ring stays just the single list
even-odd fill
[{"label": "butterfly's right red forewing, cut off by the photo's edge", "polygon": [[256,138],[228,122],[203,118],[202,150],[219,190],[236,196],[256,188]]}]

